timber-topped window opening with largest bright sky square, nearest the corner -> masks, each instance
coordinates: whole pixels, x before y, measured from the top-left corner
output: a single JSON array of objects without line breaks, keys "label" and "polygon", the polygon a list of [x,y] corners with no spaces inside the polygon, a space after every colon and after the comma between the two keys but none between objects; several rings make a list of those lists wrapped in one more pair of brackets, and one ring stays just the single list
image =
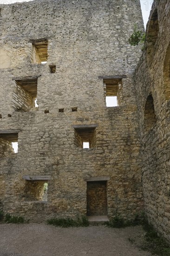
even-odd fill
[{"label": "timber-topped window opening with largest bright sky square, nearest the corner", "polygon": [[122,79],[104,79],[106,107],[117,107],[122,101]]}]

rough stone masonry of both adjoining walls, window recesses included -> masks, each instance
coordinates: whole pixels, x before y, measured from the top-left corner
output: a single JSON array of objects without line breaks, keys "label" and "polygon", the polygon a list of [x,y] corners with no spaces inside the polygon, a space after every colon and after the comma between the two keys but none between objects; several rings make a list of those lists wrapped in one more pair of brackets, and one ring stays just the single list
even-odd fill
[{"label": "rough stone masonry of both adjoining walls, window recesses included", "polygon": [[[0,195],[5,212],[44,222],[80,214],[132,218],[146,209],[169,238],[170,98],[165,99],[169,90],[162,85],[163,58],[170,63],[169,54],[165,57],[170,4],[156,5],[163,35],[155,45],[163,41],[163,46],[157,54],[155,45],[146,46],[140,61],[141,45],[128,42],[135,24],[144,31],[139,0],[1,6]],[[144,110],[148,96],[149,110]],[[118,106],[107,106],[112,97]],[[144,120],[153,124],[147,132]],[[18,142],[18,153],[12,142]]]}]

